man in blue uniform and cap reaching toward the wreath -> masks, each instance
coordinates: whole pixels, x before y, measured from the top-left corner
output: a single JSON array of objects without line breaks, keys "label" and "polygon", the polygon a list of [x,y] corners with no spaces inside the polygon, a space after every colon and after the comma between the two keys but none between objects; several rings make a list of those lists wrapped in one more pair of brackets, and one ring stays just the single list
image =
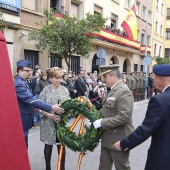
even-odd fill
[{"label": "man in blue uniform and cap reaching toward the wreath", "polygon": [[[64,113],[64,109],[56,105],[51,105],[45,103],[42,100],[37,99],[35,96],[33,97],[28,83],[26,82],[29,74],[31,73],[31,65],[32,63],[28,60],[20,60],[17,62],[17,76],[14,80],[16,96],[18,100],[22,126],[25,136],[25,142],[28,147],[28,132],[29,129],[32,128],[32,117],[33,117],[33,109],[32,107],[36,107],[38,109],[44,110],[48,113],[50,111],[54,111],[58,114]],[[56,120],[58,120],[58,116],[56,115]]]}]

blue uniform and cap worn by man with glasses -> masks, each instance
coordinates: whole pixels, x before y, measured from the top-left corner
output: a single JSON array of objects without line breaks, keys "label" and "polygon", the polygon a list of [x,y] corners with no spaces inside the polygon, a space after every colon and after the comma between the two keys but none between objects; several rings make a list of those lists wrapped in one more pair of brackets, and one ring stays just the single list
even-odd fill
[{"label": "blue uniform and cap worn by man with glasses", "polygon": [[[28,60],[20,60],[17,62],[17,67],[31,67],[31,62]],[[28,146],[28,131],[32,128],[33,107],[50,112],[52,105],[37,99],[32,95],[27,82],[20,76],[16,76],[14,80],[22,126],[26,144]]]}]

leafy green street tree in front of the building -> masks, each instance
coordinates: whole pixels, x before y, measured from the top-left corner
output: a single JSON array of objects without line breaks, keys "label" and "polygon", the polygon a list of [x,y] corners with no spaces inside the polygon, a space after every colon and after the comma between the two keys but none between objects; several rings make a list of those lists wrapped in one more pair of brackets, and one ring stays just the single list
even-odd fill
[{"label": "leafy green street tree in front of the building", "polygon": [[90,42],[93,39],[89,34],[99,32],[105,19],[101,15],[89,13],[81,20],[68,15],[59,18],[53,11],[48,10],[45,10],[44,14],[48,24],[37,22],[41,29],[33,29],[29,33],[29,40],[35,40],[35,46],[41,52],[47,48],[49,55],[57,53],[60,58],[64,58],[70,70],[73,54],[88,57],[92,50]]}]

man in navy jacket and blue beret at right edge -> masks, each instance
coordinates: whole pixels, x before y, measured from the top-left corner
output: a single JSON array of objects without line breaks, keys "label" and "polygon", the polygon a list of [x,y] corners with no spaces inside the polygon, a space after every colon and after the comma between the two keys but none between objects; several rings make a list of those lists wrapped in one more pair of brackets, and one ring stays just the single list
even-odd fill
[{"label": "man in navy jacket and blue beret at right edge", "polygon": [[157,65],[153,72],[161,93],[150,99],[142,124],[113,147],[126,152],[151,136],[145,170],[170,170],[170,64]]}]

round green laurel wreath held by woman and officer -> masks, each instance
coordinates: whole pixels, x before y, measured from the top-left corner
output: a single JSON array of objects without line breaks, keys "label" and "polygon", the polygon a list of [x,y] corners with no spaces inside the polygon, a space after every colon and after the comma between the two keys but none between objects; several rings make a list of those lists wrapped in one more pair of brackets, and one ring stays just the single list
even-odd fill
[{"label": "round green laurel wreath held by woman and officer", "polygon": [[[98,145],[102,135],[102,129],[95,129],[93,126],[93,122],[101,118],[99,112],[85,97],[66,100],[60,107],[65,110],[65,113],[60,115],[61,120],[55,123],[57,137],[60,142],[73,151],[93,151]],[[70,131],[70,127],[67,127],[70,114],[82,115],[90,120],[91,126],[84,126],[84,134],[77,135],[75,132]]]}]

